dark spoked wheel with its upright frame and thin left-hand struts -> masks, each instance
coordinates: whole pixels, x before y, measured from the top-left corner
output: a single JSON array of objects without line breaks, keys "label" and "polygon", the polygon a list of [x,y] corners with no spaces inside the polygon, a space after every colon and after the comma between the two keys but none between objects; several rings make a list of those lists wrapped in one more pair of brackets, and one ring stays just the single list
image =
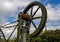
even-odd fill
[{"label": "dark spoked wheel with its upright frame and thin left-hand struts", "polygon": [[[39,6],[38,8],[37,8],[37,10],[32,14],[32,12],[33,12],[33,7],[34,6]],[[22,13],[23,14],[29,14],[29,13],[27,13],[28,11],[29,11],[29,9],[31,8],[31,13],[30,13],[30,15],[29,15],[29,17],[30,17],[30,20],[29,21],[26,21],[27,23],[26,23],[26,25],[25,26],[27,26],[28,27],[28,32],[26,32],[26,41],[25,42],[30,42],[30,38],[33,38],[33,37],[36,37],[38,34],[40,34],[41,33],[41,31],[43,30],[43,28],[44,28],[44,26],[45,26],[45,23],[46,23],[46,20],[47,20],[47,11],[46,11],[46,8],[45,8],[45,6],[44,5],[42,5],[40,2],[37,2],[37,1],[34,1],[34,2],[32,2],[32,3],[30,3],[25,9],[24,9],[24,11],[23,12],[20,12],[19,14],[18,14],[18,24],[16,25],[16,27],[18,27],[17,28],[17,40],[16,40],[16,42],[24,42],[24,41],[22,41],[23,40],[23,32],[22,31],[24,31],[24,30],[26,30],[26,29],[21,29],[22,27],[22,25],[21,25],[21,23],[22,23],[22,21],[23,21],[23,19],[22,19]],[[36,12],[39,10],[39,8],[41,8],[41,11],[42,11],[42,16],[41,17],[35,17],[34,18],[34,15],[36,14]],[[40,24],[39,24],[39,26],[38,27],[36,27],[35,26],[35,24],[34,24],[34,22],[32,21],[32,20],[34,20],[34,19],[39,19],[39,18],[41,18],[41,22],[40,22]],[[15,23],[15,22],[17,22],[17,21],[14,21],[14,22],[12,22],[12,23]],[[9,24],[12,24],[12,23],[9,23]],[[32,34],[29,34],[29,30],[30,30],[30,24],[33,24],[33,26],[35,27],[35,28],[37,28],[36,29],[36,31],[34,31]],[[6,24],[6,25],[9,25],[9,24]],[[6,25],[4,25],[4,26],[6,26]],[[10,26],[10,27],[14,27],[14,26]],[[16,29],[16,27],[15,27],[15,29]],[[3,26],[2,26],[2,28],[3,28]],[[9,27],[5,27],[5,28],[9,28]],[[26,28],[26,27],[25,27]],[[15,31],[15,29],[13,30],[13,32]],[[4,33],[3,33],[3,31],[1,30],[1,28],[0,28],[0,31],[1,31],[1,33],[2,33],[2,35],[3,35],[3,37],[4,37],[4,40],[5,40],[5,42],[8,42],[9,41],[9,39],[10,39],[10,37],[11,37],[11,35],[13,34],[13,32],[11,33],[11,35],[9,36],[9,38],[6,40],[6,38],[5,38],[5,35],[4,35]],[[21,36],[21,37],[20,37]]]}]

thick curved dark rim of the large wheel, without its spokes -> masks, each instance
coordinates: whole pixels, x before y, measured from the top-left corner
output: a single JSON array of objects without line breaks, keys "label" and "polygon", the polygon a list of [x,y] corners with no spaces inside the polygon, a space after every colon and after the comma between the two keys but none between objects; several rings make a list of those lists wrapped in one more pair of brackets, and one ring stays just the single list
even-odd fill
[{"label": "thick curved dark rim of the large wheel, without its spokes", "polygon": [[[45,24],[46,24],[46,20],[47,20],[47,10],[46,10],[45,6],[42,5],[40,2],[37,2],[37,1],[30,3],[30,4],[24,9],[23,13],[27,13],[27,11],[29,11],[29,9],[30,9],[31,7],[34,7],[34,6],[39,6],[39,8],[41,8],[41,11],[42,11],[42,19],[41,19],[41,22],[40,22],[40,24],[39,24],[38,29],[37,29],[34,33],[30,34],[30,37],[36,37],[38,34],[40,34],[41,31],[43,30],[43,28],[44,28],[44,26],[45,26]],[[38,8],[38,9],[39,9],[39,8]],[[37,9],[37,10],[38,10],[38,9]],[[34,15],[35,15],[35,14],[34,14]],[[32,17],[32,18],[33,18],[33,17]]]}]

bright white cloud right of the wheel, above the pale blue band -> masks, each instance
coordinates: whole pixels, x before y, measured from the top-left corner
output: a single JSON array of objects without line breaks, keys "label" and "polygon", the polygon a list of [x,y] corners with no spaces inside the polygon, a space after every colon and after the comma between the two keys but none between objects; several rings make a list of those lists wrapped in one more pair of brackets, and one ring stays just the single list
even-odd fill
[{"label": "bright white cloud right of the wheel, above the pale blue band", "polygon": [[51,4],[47,5],[47,14],[48,14],[48,20],[51,21],[57,21],[60,18],[60,7],[59,5],[57,7],[53,7]]}]

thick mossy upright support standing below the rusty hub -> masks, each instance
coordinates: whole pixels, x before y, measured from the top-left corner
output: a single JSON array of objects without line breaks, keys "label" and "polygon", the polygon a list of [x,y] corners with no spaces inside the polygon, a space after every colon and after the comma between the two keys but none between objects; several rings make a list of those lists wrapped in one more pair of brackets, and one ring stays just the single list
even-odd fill
[{"label": "thick mossy upright support standing below the rusty hub", "polygon": [[[30,23],[29,21],[26,21],[22,18],[21,16],[22,13],[18,15],[18,28],[17,28],[17,42],[30,42],[30,35],[29,35],[29,30],[30,30]],[[26,21],[25,26],[28,27],[26,30],[25,28],[22,28],[21,26],[23,25],[23,21]],[[25,32],[26,31],[26,32]],[[24,41],[25,40],[25,41]]]}]

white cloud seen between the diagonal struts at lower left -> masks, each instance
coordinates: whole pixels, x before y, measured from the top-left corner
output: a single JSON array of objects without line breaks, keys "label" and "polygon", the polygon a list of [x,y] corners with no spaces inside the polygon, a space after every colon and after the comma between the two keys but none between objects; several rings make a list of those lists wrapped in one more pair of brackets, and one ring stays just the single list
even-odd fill
[{"label": "white cloud seen between the diagonal struts at lower left", "polygon": [[[3,28],[2,29],[4,35],[6,36],[6,39],[11,35],[13,30],[14,30],[14,28],[10,28],[10,29]],[[12,34],[11,38],[16,37],[16,35],[17,35],[17,29]]]}]

